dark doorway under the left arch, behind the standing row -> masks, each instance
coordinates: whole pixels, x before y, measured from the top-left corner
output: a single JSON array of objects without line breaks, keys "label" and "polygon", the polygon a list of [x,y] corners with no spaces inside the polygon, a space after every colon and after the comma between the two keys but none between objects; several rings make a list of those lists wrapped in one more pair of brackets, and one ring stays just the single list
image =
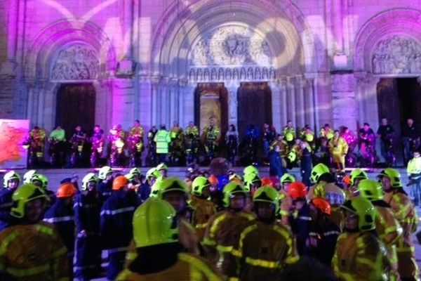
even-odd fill
[{"label": "dark doorway under the left arch, behind the standing row", "polygon": [[58,89],[55,126],[62,126],[66,138],[80,125],[91,134],[95,123],[95,88],[92,84],[62,84]]}]

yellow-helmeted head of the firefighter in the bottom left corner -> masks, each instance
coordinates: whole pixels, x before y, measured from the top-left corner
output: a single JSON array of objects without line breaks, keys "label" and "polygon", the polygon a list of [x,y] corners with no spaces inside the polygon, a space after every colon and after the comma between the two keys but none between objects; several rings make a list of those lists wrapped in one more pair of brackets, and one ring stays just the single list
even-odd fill
[{"label": "yellow-helmeted head of the firefighter in the bottom left corner", "polygon": [[11,216],[20,218],[24,223],[37,223],[43,218],[47,200],[44,190],[25,183],[13,192]]}]

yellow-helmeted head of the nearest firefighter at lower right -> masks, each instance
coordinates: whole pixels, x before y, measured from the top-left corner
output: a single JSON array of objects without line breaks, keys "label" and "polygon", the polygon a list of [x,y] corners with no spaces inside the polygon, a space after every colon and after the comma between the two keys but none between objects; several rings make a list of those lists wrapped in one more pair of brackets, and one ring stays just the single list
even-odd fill
[{"label": "yellow-helmeted head of the nearest firefighter at lower right", "polygon": [[375,229],[376,210],[366,198],[354,197],[340,208],[345,215],[345,231],[366,232]]}]

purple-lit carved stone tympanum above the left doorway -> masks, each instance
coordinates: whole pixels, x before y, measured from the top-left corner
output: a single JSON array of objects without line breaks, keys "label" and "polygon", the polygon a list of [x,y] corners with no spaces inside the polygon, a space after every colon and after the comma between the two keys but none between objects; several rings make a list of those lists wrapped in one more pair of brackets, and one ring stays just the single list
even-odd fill
[{"label": "purple-lit carved stone tympanum above the left doorway", "polygon": [[91,47],[85,44],[72,44],[58,54],[51,71],[51,79],[97,79],[99,65],[98,56]]}]

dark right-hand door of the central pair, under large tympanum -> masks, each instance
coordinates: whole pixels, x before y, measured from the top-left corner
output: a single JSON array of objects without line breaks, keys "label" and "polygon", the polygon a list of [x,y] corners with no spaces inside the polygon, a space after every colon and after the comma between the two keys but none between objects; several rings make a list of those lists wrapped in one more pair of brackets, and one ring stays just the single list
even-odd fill
[{"label": "dark right-hand door of the central pair, under large tympanum", "polygon": [[240,139],[248,126],[261,129],[265,122],[272,124],[272,92],[267,82],[242,82],[237,96]]}]

